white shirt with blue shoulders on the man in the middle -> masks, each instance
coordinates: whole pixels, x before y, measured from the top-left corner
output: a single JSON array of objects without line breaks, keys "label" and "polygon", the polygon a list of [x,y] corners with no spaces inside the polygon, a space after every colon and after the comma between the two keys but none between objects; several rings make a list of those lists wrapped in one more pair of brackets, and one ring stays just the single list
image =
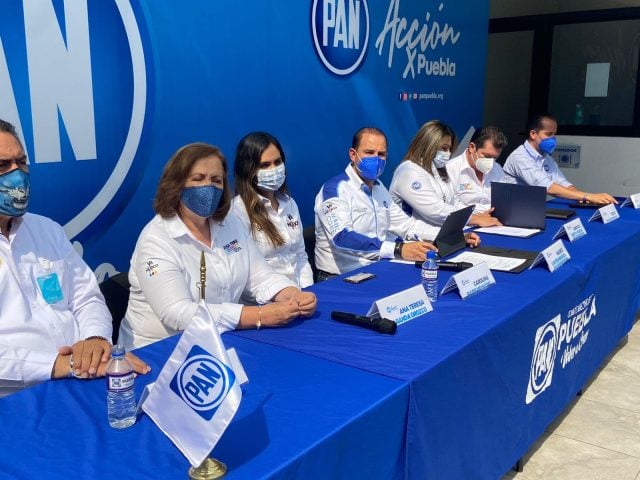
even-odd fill
[{"label": "white shirt with blue shoulders on the man in the middle", "polygon": [[315,214],[316,266],[334,274],[393,258],[398,238],[433,240],[440,230],[407,216],[380,181],[370,190],[351,165],[322,186]]}]

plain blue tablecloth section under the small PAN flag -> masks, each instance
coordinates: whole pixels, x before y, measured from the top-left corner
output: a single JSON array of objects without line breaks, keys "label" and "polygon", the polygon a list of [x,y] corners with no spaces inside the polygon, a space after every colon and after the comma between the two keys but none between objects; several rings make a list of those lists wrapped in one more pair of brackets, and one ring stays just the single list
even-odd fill
[{"label": "plain blue tablecloth section under the small PAN flag", "polygon": [[[177,337],[138,353],[155,380]],[[402,478],[408,386],[224,335],[250,383],[213,456],[226,478]],[[0,399],[2,478],[187,478],[188,462],[146,415],[107,423],[104,380],[51,381]]]}]

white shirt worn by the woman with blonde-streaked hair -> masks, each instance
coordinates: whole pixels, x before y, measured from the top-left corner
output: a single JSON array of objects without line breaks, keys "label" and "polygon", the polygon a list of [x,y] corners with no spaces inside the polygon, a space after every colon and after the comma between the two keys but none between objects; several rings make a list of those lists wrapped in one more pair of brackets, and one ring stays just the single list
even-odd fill
[{"label": "white shirt worn by the woman with blonde-streaked hair", "polygon": [[453,193],[451,179],[442,180],[436,168],[432,174],[417,163],[404,160],[391,179],[391,198],[408,215],[429,225],[442,226],[451,212],[464,208]]}]

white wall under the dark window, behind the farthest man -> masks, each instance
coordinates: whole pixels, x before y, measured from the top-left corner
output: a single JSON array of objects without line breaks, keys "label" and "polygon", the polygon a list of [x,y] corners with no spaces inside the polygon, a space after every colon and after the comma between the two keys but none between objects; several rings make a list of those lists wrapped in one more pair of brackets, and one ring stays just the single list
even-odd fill
[{"label": "white wall under the dark window, behind the farthest man", "polygon": [[640,139],[558,135],[558,145],[580,145],[580,167],[563,168],[580,190],[640,193]]}]

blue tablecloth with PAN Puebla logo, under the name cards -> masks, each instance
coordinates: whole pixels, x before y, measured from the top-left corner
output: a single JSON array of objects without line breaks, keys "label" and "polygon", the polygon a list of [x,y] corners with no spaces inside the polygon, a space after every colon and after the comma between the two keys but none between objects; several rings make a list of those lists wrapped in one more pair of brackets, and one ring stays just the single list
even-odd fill
[{"label": "blue tablecloth with PAN Puebla logo, under the name cards", "polygon": [[[583,219],[588,235],[565,240],[572,259],[556,272],[544,266],[517,275],[495,272],[496,286],[466,300],[444,295],[433,312],[401,325],[395,336],[330,319],[332,310],[364,314],[376,298],[419,282],[418,269],[388,261],[361,269],[375,273],[373,280],[352,285],[336,278],[313,286],[320,303],[312,319],[233,335],[409,382],[408,478],[498,478],[631,328],[640,297],[640,213],[624,213],[608,225]],[[483,235],[483,243],[539,251],[562,223],[549,220],[529,239]],[[451,275],[441,272],[441,285]],[[591,295],[597,313],[584,328],[586,340],[578,335],[559,345],[550,385],[527,404],[538,329],[557,315],[566,323]],[[572,356],[564,365],[563,355]]]}]

